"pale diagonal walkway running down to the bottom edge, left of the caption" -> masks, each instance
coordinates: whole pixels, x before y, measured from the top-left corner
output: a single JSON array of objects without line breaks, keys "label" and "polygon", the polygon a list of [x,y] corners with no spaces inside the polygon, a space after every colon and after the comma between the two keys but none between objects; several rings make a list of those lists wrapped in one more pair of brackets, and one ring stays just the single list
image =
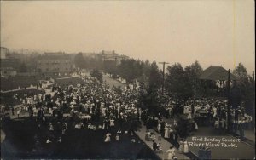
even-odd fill
[{"label": "pale diagonal walkway running down to the bottom edge, left of the caption", "polygon": [[[170,146],[172,146],[172,144],[170,142],[168,142],[167,140],[165,140],[163,137],[161,137],[161,140],[158,140],[157,137],[160,136],[160,134],[158,134],[157,132],[155,132],[154,130],[150,130],[154,133],[154,135],[156,136],[156,143],[160,143],[160,146],[162,148],[162,152],[157,151],[156,154],[161,158],[161,159],[166,159],[167,158],[167,153],[166,151],[170,148]],[[146,141],[145,140],[145,134],[146,134],[146,127],[143,125],[143,127],[138,130],[136,132],[136,134],[140,137],[141,140],[143,140],[145,142],[145,144],[147,144],[150,148],[152,148],[152,141]],[[178,152],[178,149],[176,148],[175,154],[177,156],[177,159],[189,159],[189,157],[186,157],[185,155],[181,154]]]}]

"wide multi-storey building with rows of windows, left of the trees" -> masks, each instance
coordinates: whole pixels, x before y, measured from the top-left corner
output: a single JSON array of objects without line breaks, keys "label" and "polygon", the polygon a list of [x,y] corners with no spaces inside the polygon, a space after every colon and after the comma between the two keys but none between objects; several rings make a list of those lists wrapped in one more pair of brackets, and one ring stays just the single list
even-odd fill
[{"label": "wide multi-storey building with rows of windows, left of the trees", "polygon": [[38,56],[37,71],[44,76],[67,76],[72,72],[73,63],[69,54],[44,53]]}]

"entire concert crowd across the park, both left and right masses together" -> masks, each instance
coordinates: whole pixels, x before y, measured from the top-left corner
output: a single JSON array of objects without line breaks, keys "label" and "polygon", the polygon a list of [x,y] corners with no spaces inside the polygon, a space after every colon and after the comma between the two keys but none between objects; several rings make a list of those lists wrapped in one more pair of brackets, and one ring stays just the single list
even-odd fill
[{"label": "entire concert crowd across the park, both left and right masses together", "polygon": [[[188,153],[186,137],[203,125],[212,126],[219,131],[239,131],[252,121],[241,106],[230,107],[227,100],[189,99],[181,100],[172,96],[159,95],[161,100],[157,112],[149,111],[138,105],[139,88],[110,87],[100,83],[96,78],[79,75],[83,83],[76,85],[50,86],[40,83],[42,94],[24,94],[14,98],[20,100],[21,106],[9,108],[11,115],[20,117],[28,113],[38,124],[38,136],[44,137],[44,143],[61,143],[67,128],[104,130],[102,140],[109,143],[122,140],[122,134],[135,134],[141,122],[146,126],[145,140],[153,141],[154,151],[160,150],[150,129],[157,131],[161,137],[171,141],[179,152]],[[2,110],[2,108],[1,108]],[[230,114],[230,115],[228,115]],[[230,127],[228,129],[228,117]],[[172,119],[166,121],[167,119]],[[183,126],[181,120],[189,122]],[[42,139],[42,138],[41,138]],[[134,139],[131,139],[134,142]],[[167,151],[168,158],[175,157],[173,146]]]}]

